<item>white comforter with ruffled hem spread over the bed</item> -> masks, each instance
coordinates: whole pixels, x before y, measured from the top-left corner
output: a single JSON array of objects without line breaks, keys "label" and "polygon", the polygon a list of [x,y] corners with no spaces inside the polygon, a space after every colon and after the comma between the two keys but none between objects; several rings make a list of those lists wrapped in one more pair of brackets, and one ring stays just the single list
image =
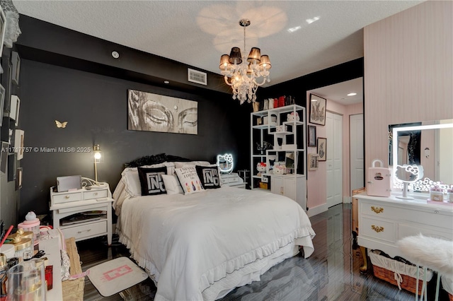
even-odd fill
[{"label": "white comforter with ruffled hem spread over the bed", "polygon": [[221,280],[237,285],[238,273],[266,268],[261,261],[294,244],[305,257],[314,251],[311,223],[295,201],[232,187],[125,199],[117,232],[158,282],[154,300],[214,300]]}]

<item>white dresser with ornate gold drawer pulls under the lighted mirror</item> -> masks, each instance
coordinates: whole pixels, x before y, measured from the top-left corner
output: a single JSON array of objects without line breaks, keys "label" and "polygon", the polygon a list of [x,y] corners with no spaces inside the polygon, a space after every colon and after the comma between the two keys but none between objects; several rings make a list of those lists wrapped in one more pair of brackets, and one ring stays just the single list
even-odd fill
[{"label": "white dresser with ornate gold drawer pulls under the lighted mirror", "polygon": [[414,200],[398,199],[393,194],[381,197],[362,193],[354,197],[358,200],[360,247],[379,249],[394,257],[401,256],[396,242],[406,236],[422,233],[453,240],[452,203],[428,203],[422,199],[428,194]]}]

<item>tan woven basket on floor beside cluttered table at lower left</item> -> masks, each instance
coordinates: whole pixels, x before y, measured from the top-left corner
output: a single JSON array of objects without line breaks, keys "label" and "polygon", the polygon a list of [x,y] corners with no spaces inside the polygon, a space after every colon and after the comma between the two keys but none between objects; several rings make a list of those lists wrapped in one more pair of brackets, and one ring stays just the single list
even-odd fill
[{"label": "tan woven basket on floor beside cluttered table at lower left", "polygon": [[[74,237],[70,237],[66,240],[66,251],[68,252],[69,260],[71,261],[71,266],[69,267],[69,273],[71,274],[71,276],[81,273],[82,268],[80,265],[80,256],[77,252],[77,246]],[[63,281],[63,301],[84,300],[84,287],[85,277]]]}]

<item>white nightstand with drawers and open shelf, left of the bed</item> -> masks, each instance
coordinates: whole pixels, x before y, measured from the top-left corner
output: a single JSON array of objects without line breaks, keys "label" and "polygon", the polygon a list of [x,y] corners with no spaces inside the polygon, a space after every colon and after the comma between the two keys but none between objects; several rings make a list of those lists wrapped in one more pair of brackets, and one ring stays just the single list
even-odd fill
[{"label": "white nightstand with drawers and open shelf, left of the bed", "polygon": [[[84,187],[73,191],[56,192],[50,187],[50,211],[54,228],[60,228],[65,238],[74,237],[76,241],[107,235],[112,243],[112,194],[107,183],[98,187]],[[99,215],[90,215],[103,211]],[[69,221],[69,216],[86,213],[81,220]]]}]

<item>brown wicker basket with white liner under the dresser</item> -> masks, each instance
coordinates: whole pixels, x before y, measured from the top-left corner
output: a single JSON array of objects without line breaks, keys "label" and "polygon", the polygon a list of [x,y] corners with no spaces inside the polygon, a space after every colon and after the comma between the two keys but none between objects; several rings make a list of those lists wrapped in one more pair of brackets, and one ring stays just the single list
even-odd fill
[{"label": "brown wicker basket with white liner under the dresser", "polygon": [[[417,288],[417,267],[404,264],[401,261],[386,258],[382,255],[379,255],[379,251],[369,252],[369,259],[371,260],[371,263],[373,265],[374,276],[393,285],[398,285],[395,280],[395,271],[398,271],[402,279],[402,281],[399,283],[401,288],[415,294],[415,290]],[[424,271],[423,268],[418,269],[420,272],[420,278],[418,280],[418,295],[420,295],[422,292]],[[430,281],[431,278],[432,272],[428,270],[427,281]]]}]

